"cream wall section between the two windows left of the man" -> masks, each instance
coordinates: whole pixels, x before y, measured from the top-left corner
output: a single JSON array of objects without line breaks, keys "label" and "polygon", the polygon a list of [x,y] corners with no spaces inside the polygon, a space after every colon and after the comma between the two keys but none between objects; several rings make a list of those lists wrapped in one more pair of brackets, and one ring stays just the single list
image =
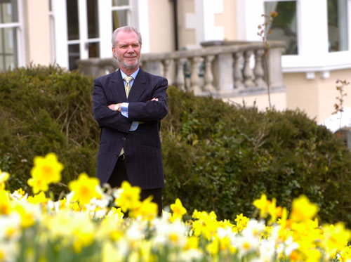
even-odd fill
[{"label": "cream wall section between the two windows left of the man", "polygon": [[27,63],[49,65],[51,43],[48,0],[25,0],[25,43]]}]

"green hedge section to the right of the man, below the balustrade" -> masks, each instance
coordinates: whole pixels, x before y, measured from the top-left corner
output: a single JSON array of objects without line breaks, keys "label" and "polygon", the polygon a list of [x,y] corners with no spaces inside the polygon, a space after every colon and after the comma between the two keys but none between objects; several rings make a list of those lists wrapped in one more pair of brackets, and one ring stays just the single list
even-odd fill
[{"label": "green hedge section to the right of the man, below the balustrade", "polygon": [[253,214],[261,193],[290,207],[307,195],[322,221],[351,225],[351,154],[324,126],[298,110],[258,112],[168,89],[162,123],[164,200],[220,218]]}]

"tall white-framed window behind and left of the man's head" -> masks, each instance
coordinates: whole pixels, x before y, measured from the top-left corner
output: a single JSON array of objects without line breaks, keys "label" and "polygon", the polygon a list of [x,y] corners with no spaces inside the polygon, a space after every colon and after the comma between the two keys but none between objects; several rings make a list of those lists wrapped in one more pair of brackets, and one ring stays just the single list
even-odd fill
[{"label": "tall white-framed window behind and left of the man's head", "polygon": [[51,0],[49,4],[53,62],[69,70],[77,69],[77,59],[112,57],[112,25],[138,25],[139,2],[134,0]]}]

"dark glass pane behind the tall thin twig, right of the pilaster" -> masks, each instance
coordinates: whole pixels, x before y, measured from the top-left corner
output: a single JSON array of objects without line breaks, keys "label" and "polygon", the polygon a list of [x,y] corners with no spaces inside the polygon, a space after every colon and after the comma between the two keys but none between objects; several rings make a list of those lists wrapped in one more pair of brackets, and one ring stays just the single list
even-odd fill
[{"label": "dark glass pane behind the tall thin twig, right of the pilaster", "polygon": [[296,1],[270,1],[265,2],[265,15],[270,11],[277,11],[267,35],[269,40],[284,40],[286,42],[285,55],[298,54],[298,27],[296,19]]}]

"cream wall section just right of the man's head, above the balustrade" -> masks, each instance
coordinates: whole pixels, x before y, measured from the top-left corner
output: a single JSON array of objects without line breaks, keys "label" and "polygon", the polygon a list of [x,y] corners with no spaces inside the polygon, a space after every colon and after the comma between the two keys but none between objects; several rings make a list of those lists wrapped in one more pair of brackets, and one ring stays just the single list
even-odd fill
[{"label": "cream wall section just right of the man's head, above the balustrade", "polygon": [[174,51],[173,2],[149,0],[150,52]]}]

